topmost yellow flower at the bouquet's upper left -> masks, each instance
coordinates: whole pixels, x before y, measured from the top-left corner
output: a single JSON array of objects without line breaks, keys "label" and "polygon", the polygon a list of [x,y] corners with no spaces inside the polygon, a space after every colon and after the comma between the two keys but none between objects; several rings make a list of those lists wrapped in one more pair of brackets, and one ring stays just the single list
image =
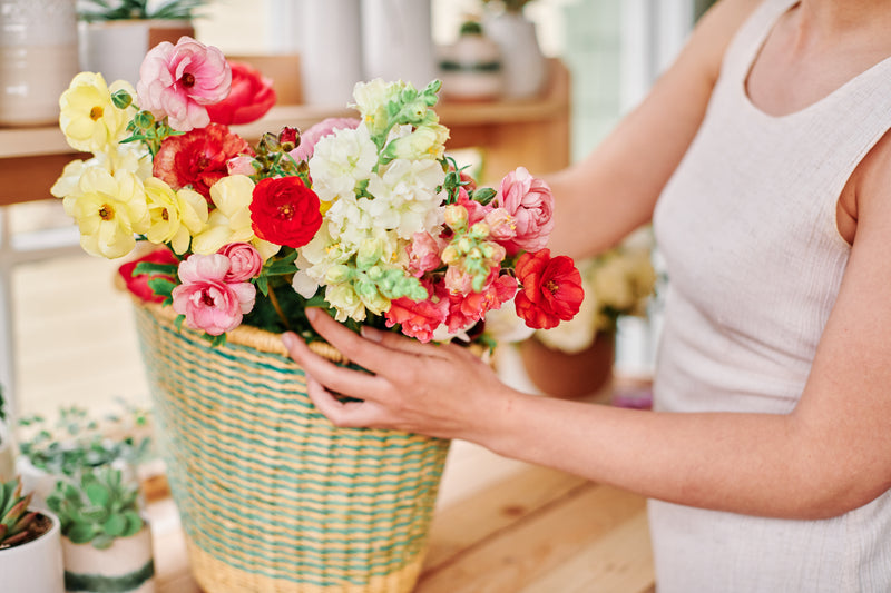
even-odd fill
[{"label": "topmost yellow flower at the bouquet's upper left", "polygon": [[136,109],[115,107],[111,93],[120,89],[136,97],[133,87],[123,80],[109,89],[100,73],[80,72],[71,80],[59,98],[59,127],[71,148],[105,152],[110,144],[123,138]]}]

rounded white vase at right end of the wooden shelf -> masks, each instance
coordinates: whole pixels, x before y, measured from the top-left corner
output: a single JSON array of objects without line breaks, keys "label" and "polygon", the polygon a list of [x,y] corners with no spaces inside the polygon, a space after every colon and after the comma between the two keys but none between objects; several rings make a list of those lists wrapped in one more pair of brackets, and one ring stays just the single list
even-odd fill
[{"label": "rounded white vase at right end of the wooden shelf", "polygon": [[520,12],[487,17],[483,30],[501,49],[505,97],[528,99],[545,88],[548,65],[536,36],[536,26]]}]

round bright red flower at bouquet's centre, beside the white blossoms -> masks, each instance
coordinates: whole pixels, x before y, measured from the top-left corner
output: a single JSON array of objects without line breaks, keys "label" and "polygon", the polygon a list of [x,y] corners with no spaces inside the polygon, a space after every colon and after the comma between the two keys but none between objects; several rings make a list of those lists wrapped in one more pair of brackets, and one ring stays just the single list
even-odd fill
[{"label": "round bright red flower at bouquet's centre, beside the white blossoms", "polygon": [[254,187],[251,221],[261,239],[303,247],[322,226],[319,196],[300,177],[268,177]]}]

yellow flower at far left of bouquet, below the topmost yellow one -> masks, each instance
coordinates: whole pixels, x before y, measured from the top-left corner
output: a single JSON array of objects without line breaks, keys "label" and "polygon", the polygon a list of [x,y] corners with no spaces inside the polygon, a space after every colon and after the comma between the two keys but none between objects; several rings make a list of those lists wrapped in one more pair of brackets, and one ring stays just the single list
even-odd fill
[{"label": "yellow flower at far left of bouquet, below the topmost yellow one", "polygon": [[91,255],[125,256],[136,246],[134,233],[149,227],[143,182],[126,170],[111,176],[104,167],[87,168],[62,204],[80,229],[80,246]]}]

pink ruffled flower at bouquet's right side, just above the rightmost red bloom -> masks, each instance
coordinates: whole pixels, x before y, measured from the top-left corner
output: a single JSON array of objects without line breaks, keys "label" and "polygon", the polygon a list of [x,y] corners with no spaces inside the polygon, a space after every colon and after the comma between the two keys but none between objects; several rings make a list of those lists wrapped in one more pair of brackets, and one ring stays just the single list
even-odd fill
[{"label": "pink ruffled flower at bouquet's right side, just above the rightmost red bloom", "polygon": [[517,167],[501,180],[500,205],[513,217],[517,236],[505,243],[508,254],[538,251],[554,229],[554,196],[548,185]]}]

